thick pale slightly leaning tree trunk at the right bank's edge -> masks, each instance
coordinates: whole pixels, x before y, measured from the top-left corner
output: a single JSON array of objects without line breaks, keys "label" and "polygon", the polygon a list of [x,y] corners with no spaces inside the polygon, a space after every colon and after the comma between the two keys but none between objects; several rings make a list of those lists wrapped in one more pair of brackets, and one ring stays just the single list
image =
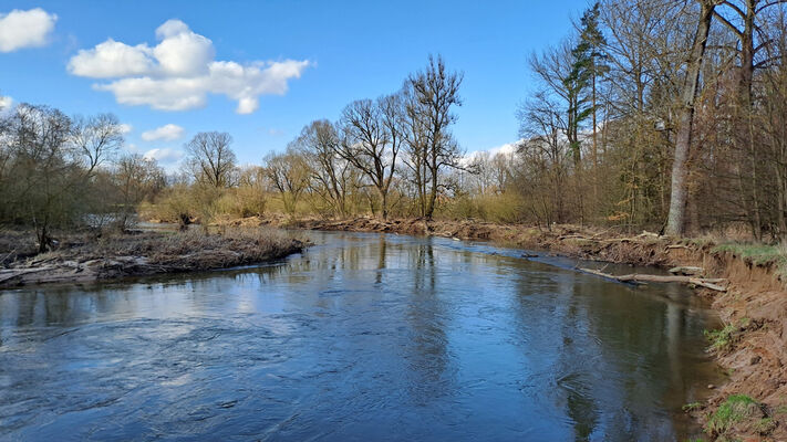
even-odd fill
[{"label": "thick pale slightly leaning tree trunk at the right bank's edge", "polygon": [[665,229],[665,233],[669,235],[680,236],[684,232],[686,192],[688,187],[688,182],[686,182],[688,177],[687,162],[694,125],[694,101],[700,88],[700,71],[705,55],[707,35],[711,31],[713,11],[715,8],[716,4],[713,0],[701,1],[697,31],[696,34],[694,34],[686,81],[683,85],[683,93],[681,94],[683,108],[679,117],[679,130],[675,138],[675,158],[672,164],[672,193],[670,197],[670,213],[667,214]]}]

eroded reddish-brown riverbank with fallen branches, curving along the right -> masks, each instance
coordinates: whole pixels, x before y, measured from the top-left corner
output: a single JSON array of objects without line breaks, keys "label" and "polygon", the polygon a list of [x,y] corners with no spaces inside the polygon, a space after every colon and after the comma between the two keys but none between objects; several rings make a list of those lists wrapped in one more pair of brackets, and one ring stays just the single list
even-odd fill
[{"label": "eroded reddish-brown riverbank with fallen branches, curving along the right", "polygon": [[725,280],[724,292],[696,288],[725,324],[721,330],[710,330],[708,338],[710,351],[728,381],[708,386],[713,393],[707,403],[686,404],[686,412],[703,424],[711,440],[787,440],[787,292],[780,251],[572,225],[540,230],[474,221],[292,221],[283,217],[232,220],[228,224],[487,240],[583,260],[698,267],[701,276]]}]

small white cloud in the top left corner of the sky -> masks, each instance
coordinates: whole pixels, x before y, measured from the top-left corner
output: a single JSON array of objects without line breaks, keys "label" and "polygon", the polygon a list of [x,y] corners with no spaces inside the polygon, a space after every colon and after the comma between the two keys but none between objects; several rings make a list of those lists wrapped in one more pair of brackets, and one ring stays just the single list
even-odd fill
[{"label": "small white cloud in the top left corner of the sky", "polygon": [[58,15],[41,8],[0,13],[0,52],[45,45],[55,21]]}]

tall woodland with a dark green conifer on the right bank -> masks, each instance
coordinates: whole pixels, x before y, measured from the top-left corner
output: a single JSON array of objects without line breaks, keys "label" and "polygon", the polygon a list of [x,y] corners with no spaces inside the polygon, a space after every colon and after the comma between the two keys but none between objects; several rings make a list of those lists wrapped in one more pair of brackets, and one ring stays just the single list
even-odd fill
[{"label": "tall woodland with a dark green conifer on the right bank", "polygon": [[603,0],[532,54],[526,206],[548,222],[787,235],[785,6]]}]

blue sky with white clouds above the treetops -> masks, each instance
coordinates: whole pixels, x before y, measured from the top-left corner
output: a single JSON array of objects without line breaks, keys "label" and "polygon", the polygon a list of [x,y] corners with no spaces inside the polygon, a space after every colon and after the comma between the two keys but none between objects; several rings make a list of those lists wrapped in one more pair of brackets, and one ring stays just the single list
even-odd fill
[{"label": "blue sky with white clouds above the treetops", "polygon": [[0,104],[110,112],[125,149],[174,168],[198,131],[228,131],[240,164],[308,123],[397,91],[429,54],[464,73],[453,130],[467,151],[518,138],[527,59],[587,0],[0,1]]}]

